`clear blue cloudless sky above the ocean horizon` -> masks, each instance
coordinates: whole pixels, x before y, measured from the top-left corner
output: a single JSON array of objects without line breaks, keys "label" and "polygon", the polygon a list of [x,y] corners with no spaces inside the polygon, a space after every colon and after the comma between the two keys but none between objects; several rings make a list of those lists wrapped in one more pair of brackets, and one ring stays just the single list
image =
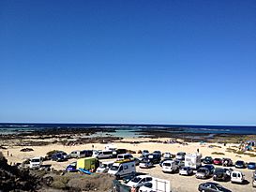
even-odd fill
[{"label": "clear blue cloudless sky above the ocean horizon", "polygon": [[256,125],[256,1],[0,1],[0,122]]}]

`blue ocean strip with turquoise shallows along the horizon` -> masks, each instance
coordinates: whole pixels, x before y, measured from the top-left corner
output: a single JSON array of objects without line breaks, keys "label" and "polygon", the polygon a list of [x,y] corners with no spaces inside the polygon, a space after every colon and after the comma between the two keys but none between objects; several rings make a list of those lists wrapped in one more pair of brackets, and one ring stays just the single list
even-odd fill
[{"label": "blue ocean strip with turquoise shallows along the horizon", "polygon": [[[143,129],[164,129],[167,132],[256,135],[256,126],[188,126],[188,125],[125,125],[125,124],[11,124],[0,123],[0,134],[19,134],[47,128],[104,128],[115,129],[114,136],[133,137]],[[136,132],[136,134],[135,134]],[[102,134],[102,133],[101,133]]]}]

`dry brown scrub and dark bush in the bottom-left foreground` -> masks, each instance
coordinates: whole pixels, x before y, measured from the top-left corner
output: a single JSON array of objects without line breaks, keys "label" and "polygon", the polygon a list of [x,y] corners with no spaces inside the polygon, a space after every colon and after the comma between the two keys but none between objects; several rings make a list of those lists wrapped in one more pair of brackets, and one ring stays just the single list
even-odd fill
[{"label": "dry brown scrub and dark bush in the bottom-left foreground", "polygon": [[0,191],[110,191],[113,176],[77,172],[28,170],[8,165],[0,153]]}]

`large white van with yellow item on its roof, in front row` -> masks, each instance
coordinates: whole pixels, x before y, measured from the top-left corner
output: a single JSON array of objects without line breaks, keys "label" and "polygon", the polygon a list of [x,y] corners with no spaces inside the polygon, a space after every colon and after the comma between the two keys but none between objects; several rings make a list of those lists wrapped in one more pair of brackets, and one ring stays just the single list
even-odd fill
[{"label": "large white van with yellow item on its roof, in front row", "polygon": [[130,174],[135,174],[135,161],[127,159],[115,161],[108,173],[115,175],[117,179],[120,179]]}]

